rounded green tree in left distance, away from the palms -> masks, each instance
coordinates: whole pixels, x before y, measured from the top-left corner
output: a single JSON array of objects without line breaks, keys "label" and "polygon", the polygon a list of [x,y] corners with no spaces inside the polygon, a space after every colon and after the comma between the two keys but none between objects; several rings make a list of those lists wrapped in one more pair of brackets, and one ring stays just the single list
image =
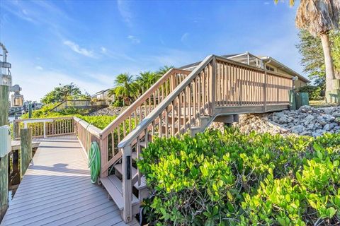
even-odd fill
[{"label": "rounded green tree in left distance, away from the palms", "polygon": [[67,85],[59,84],[52,91],[42,97],[41,102],[47,105],[50,103],[62,102],[64,100],[79,100],[88,98],[88,93],[81,93],[80,88],[76,84],[69,83]]}]

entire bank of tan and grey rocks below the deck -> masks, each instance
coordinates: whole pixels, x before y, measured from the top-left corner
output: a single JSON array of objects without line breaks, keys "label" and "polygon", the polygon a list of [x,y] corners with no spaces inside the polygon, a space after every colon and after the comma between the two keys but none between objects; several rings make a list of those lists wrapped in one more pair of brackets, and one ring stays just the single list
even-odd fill
[{"label": "entire bank of tan and grey rocks below the deck", "polygon": [[[216,128],[223,128],[213,124]],[[324,133],[340,133],[340,107],[314,108],[302,106],[297,110],[284,110],[271,114],[244,114],[233,126],[245,133],[295,133],[302,136],[322,136]]]}]

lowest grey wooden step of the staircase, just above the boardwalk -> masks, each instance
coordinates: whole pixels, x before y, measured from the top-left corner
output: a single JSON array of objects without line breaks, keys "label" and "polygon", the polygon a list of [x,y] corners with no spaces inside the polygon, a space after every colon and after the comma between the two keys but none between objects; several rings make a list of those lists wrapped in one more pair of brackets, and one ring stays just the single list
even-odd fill
[{"label": "lowest grey wooden step of the staircase, just above the boardwalk", "polygon": [[[115,175],[110,175],[105,178],[101,178],[101,184],[103,184],[108,194],[111,196],[115,204],[120,210],[124,208],[123,200],[123,183]],[[138,198],[132,194],[132,206],[137,206],[140,204]]]}]

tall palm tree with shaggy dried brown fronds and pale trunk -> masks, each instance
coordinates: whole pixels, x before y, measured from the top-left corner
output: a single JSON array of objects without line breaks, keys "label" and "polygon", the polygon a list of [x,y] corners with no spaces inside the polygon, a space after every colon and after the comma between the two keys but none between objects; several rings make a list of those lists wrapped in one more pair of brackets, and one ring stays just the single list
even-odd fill
[{"label": "tall palm tree with shaggy dried brown fronds and pale trunk", "polygon": [[[276,3],[278,0],[274,0]],[[290,0],[293,6],[294,0]],[[329,32],[339,29],[340,1],[339,0],[301,0],[297,8],[295,24],[297,28],[305,29],[314,37],[320,37],[326,66],[326,101],[330,101],[335,79],[333,58]]]}]

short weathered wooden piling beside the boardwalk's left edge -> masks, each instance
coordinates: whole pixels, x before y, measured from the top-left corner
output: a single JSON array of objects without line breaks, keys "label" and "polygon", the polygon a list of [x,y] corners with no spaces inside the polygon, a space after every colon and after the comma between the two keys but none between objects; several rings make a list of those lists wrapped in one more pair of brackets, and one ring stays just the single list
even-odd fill
[{"label": "short weathered wooden piling beside the boardwalk's left edge", "polygon": [[21,129],[21,177],[32,160],[32,128]]}]

